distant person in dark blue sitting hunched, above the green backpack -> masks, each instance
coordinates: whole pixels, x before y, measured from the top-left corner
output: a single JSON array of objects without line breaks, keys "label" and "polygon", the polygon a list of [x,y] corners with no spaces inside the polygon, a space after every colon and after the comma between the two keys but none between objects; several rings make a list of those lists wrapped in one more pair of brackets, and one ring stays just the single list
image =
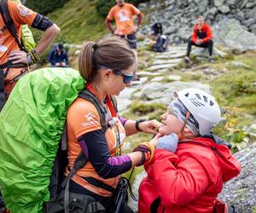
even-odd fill
[{"label": "distant person in dark blue sitting hunched, above the green backpack", "polygon": [[48,60],[51,66],[56,66],[56,67],[68,66],[67,51],[64,49],[62,43],[57,44],[56,47],[49,53]]}]

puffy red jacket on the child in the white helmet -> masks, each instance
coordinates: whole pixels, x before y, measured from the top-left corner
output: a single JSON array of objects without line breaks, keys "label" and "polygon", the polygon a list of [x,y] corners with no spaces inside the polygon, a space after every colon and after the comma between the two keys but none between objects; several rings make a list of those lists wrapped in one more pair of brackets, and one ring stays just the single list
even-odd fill
[{"label": "puffy red jacket on the child in the white helmet", "polygon": [[209,138],[178,143],[177,152],[154,151],[154,159],[145,165],[148,176],[139,187],[139,213],[150,212],[160,199],[157,212],[212,212],[223,183],[241,171],[228,147]]}]

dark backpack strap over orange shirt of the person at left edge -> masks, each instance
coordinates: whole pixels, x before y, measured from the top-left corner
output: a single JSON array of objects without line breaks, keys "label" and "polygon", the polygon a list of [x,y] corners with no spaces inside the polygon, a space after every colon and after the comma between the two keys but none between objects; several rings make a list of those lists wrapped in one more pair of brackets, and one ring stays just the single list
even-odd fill
[{"label": "dark backpack strap over orange shirt of the person at left edge", "polygon": [[9,30],[9,32],[12,34],[12,36],[15,37],[15,42],[18,44],[20,50],[26,52],[26,49],[20,43],[14,20],[11,18],[10,14],[9,14],[8,0],[2,0],[0,6],[1,6],[0,12],[2,14],[3,22],[6,26],[6,28]]}]

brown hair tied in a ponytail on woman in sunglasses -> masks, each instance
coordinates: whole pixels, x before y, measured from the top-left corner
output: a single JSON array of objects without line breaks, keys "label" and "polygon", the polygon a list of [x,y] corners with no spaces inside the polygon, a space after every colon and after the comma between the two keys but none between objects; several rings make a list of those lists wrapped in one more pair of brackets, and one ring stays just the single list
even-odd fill
[{"label": "brown hair tied in a ponytail on woman in sunglasses", "polygon": [[97,67],[125,70],[137,63],[136,55],[129,44],[119,37],[108,37],[98,43],[84,43],[79,54],[79,72],[87,81],[96,78]]}]

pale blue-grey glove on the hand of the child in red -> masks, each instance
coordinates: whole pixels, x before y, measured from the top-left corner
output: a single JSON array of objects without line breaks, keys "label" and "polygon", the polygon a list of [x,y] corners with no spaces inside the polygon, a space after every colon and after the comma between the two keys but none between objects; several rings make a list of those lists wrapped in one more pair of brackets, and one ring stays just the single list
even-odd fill
[{"label": "pale blue-grey glove on the hand of the child in red", "polygon": [[177,149],[177,134],[172,133],[171,135],[164,135],[157,142],[157,149],[165,149],[171,151],[172,153],[176,152]]}]

